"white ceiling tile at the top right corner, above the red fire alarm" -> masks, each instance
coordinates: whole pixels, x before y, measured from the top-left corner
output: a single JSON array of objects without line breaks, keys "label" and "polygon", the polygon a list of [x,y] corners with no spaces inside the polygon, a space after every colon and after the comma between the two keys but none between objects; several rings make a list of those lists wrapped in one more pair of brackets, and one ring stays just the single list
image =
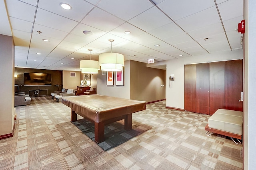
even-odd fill
[{"label": "white ceiling tile at the top right corner, above the red fire alarm", "polygon": [[[243,16],[243,0],[228,0],[218,5],[222,21]],[[228,9],[228,10],[227,10]]]}]

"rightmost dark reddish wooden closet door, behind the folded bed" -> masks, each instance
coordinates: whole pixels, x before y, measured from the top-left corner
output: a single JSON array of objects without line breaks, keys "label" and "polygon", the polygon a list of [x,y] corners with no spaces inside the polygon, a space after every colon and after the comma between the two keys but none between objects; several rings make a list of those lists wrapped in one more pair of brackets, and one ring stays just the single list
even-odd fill
[{"label": "rightmost dark reddish wooden closet door, behind the folded bed", "polygon": [[225,109],[243,111],[240,92],[243,91],[243,61],[225,62]]}]

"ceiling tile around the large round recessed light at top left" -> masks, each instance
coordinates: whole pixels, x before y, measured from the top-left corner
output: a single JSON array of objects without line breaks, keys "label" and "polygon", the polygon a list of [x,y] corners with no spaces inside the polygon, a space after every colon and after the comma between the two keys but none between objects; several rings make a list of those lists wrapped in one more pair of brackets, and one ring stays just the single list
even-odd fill
[{"label": "ceiling tile around the large round recessed light at top left", "polygon": [[[66,18],[69,18],[71,20],[75,20],[75,21],[79,22],[94,7],[94,5],[88,3],[84,0],[75,0],[75,1],[65,2],[72,7],[71,10],[65,10],[60,6],[60,4],[62,2],[63,2],[63,0],[54,0],[54,1],[42,0],[42,1],[39,1],[38,8],[47,10],[54,14],[58,14],[60,16],[64,16]],[[49,5],[49,4],[51,4],[51,5]]]}]

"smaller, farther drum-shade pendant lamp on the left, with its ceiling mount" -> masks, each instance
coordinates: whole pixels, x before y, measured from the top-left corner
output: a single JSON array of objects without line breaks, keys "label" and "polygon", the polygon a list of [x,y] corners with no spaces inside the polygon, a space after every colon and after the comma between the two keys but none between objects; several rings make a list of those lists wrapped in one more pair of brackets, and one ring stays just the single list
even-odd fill
[{"label": "smaller, farther drum-shade pendant lamp on the left, with its ceiling mount", "polygon": [[97,74],[100,70],[99,62],[91,60],[92,49],[88,49],[88,51],[90,51],[90,60],[81,60],[80,69],[82,73]]}]

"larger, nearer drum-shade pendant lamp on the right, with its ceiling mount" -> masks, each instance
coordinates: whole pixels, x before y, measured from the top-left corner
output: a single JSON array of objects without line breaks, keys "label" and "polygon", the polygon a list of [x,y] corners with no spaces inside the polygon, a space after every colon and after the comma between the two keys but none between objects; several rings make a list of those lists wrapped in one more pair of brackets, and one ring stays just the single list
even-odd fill
[{"label": "larger, nearer drum-shade pendant lamp on the right, with its ceiling mount", "polygon": [[124,66],[124,55],[112,53],[112,42],[114,39],[109,39],[111,42],[111,53],[102,53],[99,55],[99,65],[102,71],[121,71]]}]

